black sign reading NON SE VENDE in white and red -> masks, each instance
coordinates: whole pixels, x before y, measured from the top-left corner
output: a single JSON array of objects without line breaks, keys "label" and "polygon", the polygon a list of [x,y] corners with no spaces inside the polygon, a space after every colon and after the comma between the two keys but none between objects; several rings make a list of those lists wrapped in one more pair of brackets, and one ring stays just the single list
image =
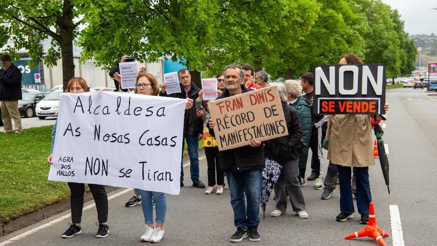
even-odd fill
[{"label": "black sign reading NON SE VENDE in white and red", "polygon": [[385,114],[385,64],[314,66],[315,114]]}]

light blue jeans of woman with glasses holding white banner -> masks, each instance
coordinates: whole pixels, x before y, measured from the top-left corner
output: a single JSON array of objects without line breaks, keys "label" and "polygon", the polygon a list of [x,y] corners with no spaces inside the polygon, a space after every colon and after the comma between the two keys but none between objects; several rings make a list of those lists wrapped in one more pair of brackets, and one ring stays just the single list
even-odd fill
[{"label": "light blue jeans of woman with glasses holding white banner", "polygon": [[155,198],[156,223],[164,223],[167,211],[167,198],[165,193],[138,189],[141,194],[141,206],[143,207],[144,222],[146,225],[153,224],[153,202]]}]

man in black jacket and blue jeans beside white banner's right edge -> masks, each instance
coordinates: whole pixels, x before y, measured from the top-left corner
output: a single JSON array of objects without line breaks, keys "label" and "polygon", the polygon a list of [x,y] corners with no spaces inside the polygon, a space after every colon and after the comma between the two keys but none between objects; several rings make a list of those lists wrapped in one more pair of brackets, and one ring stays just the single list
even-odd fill
[{"label": "man in black jacket and blue jeans beside white banner's right edge", "polygon": [[[200,89],[191,82],[190,71],[181,69],[178,71],[181,91],[179,93],[167,94],[165,82],[162,83],[160,96],[170,96],[176,98],[191,98],[193,101],[199,97]],[[196,122],[199,121],[199,122]],[[197,188],[205,188],[205,184],[199,180],[199,140],[203,138],[203,123],[202,119],[196,117],[196,107],[185,110],[184,116],[184,138],[182,140],[182,155],[184,152],[185,140],[187,140],[188,156],[190,157],[190,173],[193,186]],[[181,187],[184,186],[184,166],[183,157],[181,161]]]}]

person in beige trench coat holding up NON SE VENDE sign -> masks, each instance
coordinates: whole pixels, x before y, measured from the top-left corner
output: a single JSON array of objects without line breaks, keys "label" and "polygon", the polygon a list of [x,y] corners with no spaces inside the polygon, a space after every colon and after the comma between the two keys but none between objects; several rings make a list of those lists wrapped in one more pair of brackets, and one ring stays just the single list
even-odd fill
[{"label": "person in beige trench coat holding up NON SE VENDE sign", "polygon": [[[341,57],[339,64],[363,64],[355,54]],[[388,110],[388,105],[384,105]],[[357,179],[357,207],[361,214],[361,224],[368,222],[368,208],[372,201],[368,167],[375,164],[373,158],[373,137],[371,133],[371,115],[336,114],[330,120],[328,160],[338,166],[340,180],[340,211],[337,221],[353,218],[354,203],[352,198],[352,167]],[[378,118],[379,115],[377,116]]]}]

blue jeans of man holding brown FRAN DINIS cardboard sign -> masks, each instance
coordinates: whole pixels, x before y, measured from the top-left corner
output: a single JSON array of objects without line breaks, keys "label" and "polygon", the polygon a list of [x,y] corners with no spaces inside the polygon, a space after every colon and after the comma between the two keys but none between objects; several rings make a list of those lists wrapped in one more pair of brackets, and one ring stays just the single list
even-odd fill
[{"label": "blue jeans of man holding brown FRAN DINIS cardboard sign", "polygon": [[[246,171],[226,171],[227,183],[230,191],[230,204],[234,211],[235,227],[248,230],[249,226],[257,227],[260,223],[258,217],[262,169]],[[244,201],[246,192],[247,204]]]}]

